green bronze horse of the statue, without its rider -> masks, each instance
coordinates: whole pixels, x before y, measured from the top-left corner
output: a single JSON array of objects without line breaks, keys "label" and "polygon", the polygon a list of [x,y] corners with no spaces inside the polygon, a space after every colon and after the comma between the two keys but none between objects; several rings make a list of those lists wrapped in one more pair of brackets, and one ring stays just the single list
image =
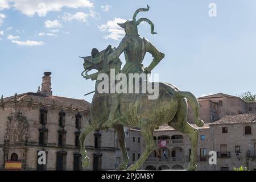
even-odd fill
[{"label": "green bronze horse of the statue, without its rider", "polygon": [[[84,69],[86,75],[83,75],[86,79],[96,80],[97,75],[105,73],[110,76],[110,69],[119,71],[121,67],[121,61],[115,59],[109,64],[106,64],[106,57],[113,52],[113,48],[109,46],[104,51],[97,52],[92,56],[84,57]],[[87,75],[88,71],[96,69],[98,72],[92,75]],[[97,85],[101,80],[96,81]],[[142,138],[146,143],[146,150],[143,151],[141,157],[131,165],[127,170],[136,170],[140,168],[143,162],[147,159],[155,149],[155,143],[153,138],[154,129],[160,125],[168,124],[176,131],[180,131],[183,134],[188,134],[191,139],[191,161],[188,164],[187,170],[196,169],[197,160],[197,135],[198,130],[187,122],[188,116],[188,104],[191,105],[193,110],[193,119],[197,126],[203,126],[204,122],[199,118],[199,102],[196,97],[190,92],[181,92],[174,85],[168,83],[159,82],[159,97],[156,100],[148,100],[148,93],[139,94],[127,94],[130,97],[123,97],[120,102],[120,114],[114,123],[111,123],[108,127],[113,128],[117,132],[118,143],[123,154],[123,163],[118,166],[119,170],[126,169],[129,161],[129,156],[126,151],[125,144],[125,131],[123,126],[127,127],[140,127]],[[135,96],[135,97],[133,97]],[[97,92],[93,96],[92,104],[90,105],[90,121],[86,124],[84,130],[80,134],[80,146],[82,155],[82,166],[87,167],[89,165],[89,158],[86,156],[86,150],[84,146],[86,135],[92,133],[97,129],[106,129],[106,127],[99,126],[102,121],[108,120],[108,114],[110,110],[110,94],[101,94]]]}]

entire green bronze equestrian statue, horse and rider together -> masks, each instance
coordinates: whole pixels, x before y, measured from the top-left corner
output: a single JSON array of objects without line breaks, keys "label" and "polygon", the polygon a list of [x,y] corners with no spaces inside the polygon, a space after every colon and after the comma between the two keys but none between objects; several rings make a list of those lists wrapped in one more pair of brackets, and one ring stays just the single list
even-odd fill
[{"label": "entire green bronze equestrian statue, horse and rider together", "polygon": [[[111,78],[122,73],[143,73],[148,74],[163,59],[164,54],[159,52],[148,40],[138,35],[137,26],[142,21],[146,21],[151,25],[151,34],[154,32],[154,24],[146,18],[136,21],[136,15],[147,9],[138,9],[135,11],[133,20],[119,24],[125,28],[126,36],[117,48],[108,46],[103,51],[92,49],[91,56],[82,57],[84,59],[84,72],[82,76],[86,79],[96,80],[95,93],[90,105],[90,119],[80,134],[80,154],[82,155],[82,166],[89,165],[89,158],[86,155],[84,146],[85,137],[95,130],[107,130],[113,128],[117,133],[118,143],[122,151],[123,162],[119,164],[119,170],[134,171],[140,168],[143,162],[148,158],[152,151],[155,150],[155,142],[153,137],[154,129],[161,125],[169,125],[176,131],[189,135],[191,140],[191,156],[187,170],[196,170],[197,161],[197,138],[198,130],[187,122],[188,103],[193,111],[193,120],[197,126],[201,127],[204,122],[199,118],[199,102],[191,92],[182,92],[176,86],[166,82],[149,82],[141,80],[142,85],[158,88],[158,97],[148,99],[151,93],[102,93],[98,88],[102,86],[102,75]],[[121,70],[122,62],[119,55],[125,52],[126,65]],[[143,68],[141,64],[146,52],[151,53],[154,57],[152,63],[147,68]],[[96,69],[97,72],[88,75],[88,72]],[[111,80],[111,79],[110,79]],[[130,81],[130,80],[129,80]],[[129,82],[127,81],[127,82]],[[120,81],[119,81],[120,82]],[[113,83],[107,81],[104,89],[117,86],[117,80]],[[141,84],[140,84],[141,90]],[[107,89],[107,90],[108,90]],[[134,89],[134,88],[133,88]],[[113,109],[114,108],[114,109]],[[112,115],[112,119],[110,119]],[[140,128],[142,138],[146,144],[141,157],[131,166],[127,166],[129,156],[126,151],[125,131],[123,126],[131,128]]]}]

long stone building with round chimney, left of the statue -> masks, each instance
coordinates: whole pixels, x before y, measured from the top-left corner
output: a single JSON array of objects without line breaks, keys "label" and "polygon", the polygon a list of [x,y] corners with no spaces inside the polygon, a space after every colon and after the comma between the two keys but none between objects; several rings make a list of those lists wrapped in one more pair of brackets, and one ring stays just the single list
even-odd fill
[{"label": "long stone building with round chimney, left of the statue", "polygon": [[[0,169],[81,170],[79,134],[89,119],[89,102],[52,95],[51,73],[36,93],[0,100]],[[84,170],[115,169],[121,156],[113,129],[86,137],[90,165]],[[46,165],[38,165],[38,152]],[[120,159],[121,160],[121,159]]]}]

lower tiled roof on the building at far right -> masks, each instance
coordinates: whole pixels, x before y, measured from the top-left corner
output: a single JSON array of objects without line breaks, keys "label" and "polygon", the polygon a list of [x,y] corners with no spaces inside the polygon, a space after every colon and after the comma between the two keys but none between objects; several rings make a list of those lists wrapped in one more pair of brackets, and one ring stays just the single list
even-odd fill
[{"label": "lower tiled roof on the building at far right", "polygon": [[256,114],[230,114],[219,119],[210,125],[236,124],[236,123],[255,123]]}]

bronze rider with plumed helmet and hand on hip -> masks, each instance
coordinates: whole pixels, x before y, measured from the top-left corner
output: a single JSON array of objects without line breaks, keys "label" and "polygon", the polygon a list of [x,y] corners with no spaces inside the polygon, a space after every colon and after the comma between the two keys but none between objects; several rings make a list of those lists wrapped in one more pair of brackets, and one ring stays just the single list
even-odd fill
[{"label": "bronze rider with plumed helmet and hand on hip", "polygon": [[[141,22],[147,22],[151,26],[151,34],[154,32],[154,24],[147,18],[140,18],[136,20],[136,16],[141,11],[148,11],[150,7],[147,5],[147,9],[141,8],[135,11],[133,20],[127,20],[125,23],[118,23],[118,25],[125,29],[125,37],[122,39],[119,46],[108,56],[108,62],[110,63],[114,59],[118,58],[122,52],[125,53],[126,63],[121,70],[121,73],[125,73],[128,77],[129,73],[151,73],[152,69],[158,65],[158,63],[164,58],[164,53],[159,52],[153,44],[147,39],[142,38],[138,34],[138,25]],[[146,52],[151,53],[153,60],[151,64],[144,68],[142,61]],[[115,119],[115,113],[119,105],[119,94],[113,94],[110,100],[110,114],[108,121],[104,123],[104,126],[109,126],[110,123]]]}]

